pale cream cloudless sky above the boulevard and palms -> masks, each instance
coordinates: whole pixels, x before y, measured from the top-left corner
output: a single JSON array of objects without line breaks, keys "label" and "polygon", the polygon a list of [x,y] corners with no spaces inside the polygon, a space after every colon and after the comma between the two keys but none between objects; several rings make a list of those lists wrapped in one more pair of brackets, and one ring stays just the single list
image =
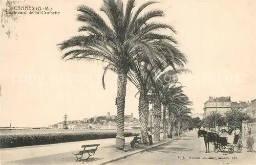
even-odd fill
[{"label": "pale cream cloudless sky above the boulevard and palms", "polygon": [[[124,1],[126,4],[126,1]],[[138,7],[145,0],[136,1]],[[1,5],[5,2],[1,2]],[[110,71],[101,83],[102,63],[61,60],[56,44],[78,34],[76,6],[88,5],[99,12],[102,1],[26,1],[31,6],[48,6],[59,15],[20,15],[10,21],[11,36],[1,27],[0,126],[39,127],[95,115],[116,114],[117,76]],[[22,6],[20,3],[18,6]],[[232,101],[255,97],[256,3],[249,1],[161,1],[146,8],[166,12],[161,22],[179,32],[175,37],[186,54],[181,75],[185,94],[203,113],[204,102],[230,96]],[[136,8],[137,9],[137,8]],[[105,19],[106,16],[100,12]],[[138,117],[137,89],[127,83],[125,114]]]}]

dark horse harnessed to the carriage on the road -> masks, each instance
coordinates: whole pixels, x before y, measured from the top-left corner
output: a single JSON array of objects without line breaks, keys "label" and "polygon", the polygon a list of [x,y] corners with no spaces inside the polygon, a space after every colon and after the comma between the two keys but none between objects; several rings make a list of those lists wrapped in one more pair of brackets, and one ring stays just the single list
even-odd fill
[{"label": "dark horse harnessed to the carriage on the road", "polygon": [[220,136],[217,133],[207,132],[205,130],[198,130],[197,137],[202,137],[202,136],[204,137],[204,144],[205,144],[205,148],[206,148],[205,153],[207,153],[207,145],[208,145],[208,153],[210,153],[210,150],[209,150],[210,142],[214,143],[216,149],[218,148],[217,141],[219,140]]}]

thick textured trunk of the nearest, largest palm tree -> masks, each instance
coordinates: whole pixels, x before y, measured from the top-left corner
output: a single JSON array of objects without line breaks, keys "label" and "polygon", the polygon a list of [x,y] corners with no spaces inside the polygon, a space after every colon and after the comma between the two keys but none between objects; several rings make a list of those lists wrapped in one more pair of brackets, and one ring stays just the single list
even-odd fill
[{"label": "thick textured trunk of the nearest, largest palm tree", "polygon": [[124,106],[126,95],[127,75],[123,72],[118,73],[117,78],[117,134],[116,149],[124,149]]}]

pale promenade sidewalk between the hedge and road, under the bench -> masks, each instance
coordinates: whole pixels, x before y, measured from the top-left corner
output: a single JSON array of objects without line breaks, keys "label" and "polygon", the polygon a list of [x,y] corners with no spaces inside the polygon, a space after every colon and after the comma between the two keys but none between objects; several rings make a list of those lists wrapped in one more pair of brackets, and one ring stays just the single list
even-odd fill
[{"label": "pale promenade sidewalk between the hedge and road, under the bench", "polygon": [[[3,164],[104,164],[120,157],[124,158],[163,143],[168,143],[169,140],[173,140],[175,137],[165,141],[162,140],[162,142],[157,144],[155,142],[153,146],[139,145],[138,148],[131,148],[129,142],[131,142],[132,139],[133,137],[125,137],[124,151],[117,151],[115,149],[115,138],[5,150],[1,149],[1,161]],[[94,158],[85,162],[76,162],[75,155],[72,155],[72,153],[77,152],[82,145],[87,144],[100,144],[98,151],[93,156]],[[87,155],[84,155],[84,158],[87,158]]]}]

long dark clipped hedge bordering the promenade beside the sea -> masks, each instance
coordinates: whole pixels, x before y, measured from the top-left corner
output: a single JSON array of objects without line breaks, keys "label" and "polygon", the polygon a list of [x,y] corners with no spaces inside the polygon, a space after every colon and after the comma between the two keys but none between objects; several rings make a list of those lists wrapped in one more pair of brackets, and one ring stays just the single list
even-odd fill
[{"label": "long dark clipped hedge bordering the promenade beside the sea", "polygon": [[[124,136],[135,136],[138,133],[125,132]],[[0,135],[0,148],[14,148],[24,146],[49,145],[57,143],[78,142],[83,140],[95,140],[115,138],[114,132],[84,132],[84,133],[47,133],[47,134],[22,134]]]}]

